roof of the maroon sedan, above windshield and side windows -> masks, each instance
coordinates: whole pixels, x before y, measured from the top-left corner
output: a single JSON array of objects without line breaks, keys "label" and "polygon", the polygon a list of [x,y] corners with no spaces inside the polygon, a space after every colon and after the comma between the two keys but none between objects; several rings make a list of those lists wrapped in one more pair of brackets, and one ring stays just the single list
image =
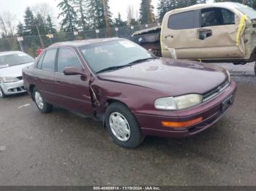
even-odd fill
[{"label": "roof of the maroon sedan, above windshield and side windows", "polygon": [[111,41],[116,41],[120,40],[121,38],[102,38],[102,39],[86,39],[86,40],[78,40],[78,41],[69,41],[69,42],[57,42],[55,44],[52,44],[50,47],[82,47],[86,46],[89,44],[98,44],[101,42],[111,42]]}]

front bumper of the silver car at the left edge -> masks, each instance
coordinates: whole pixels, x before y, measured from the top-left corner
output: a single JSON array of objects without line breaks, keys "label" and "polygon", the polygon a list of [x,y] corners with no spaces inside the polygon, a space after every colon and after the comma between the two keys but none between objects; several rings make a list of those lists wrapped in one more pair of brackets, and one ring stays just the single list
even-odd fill
[{"label": "front bumper of the silver car at the left edge", "polygon": [[25,93],[26,89],[24,87],[23,80],[18,82],[8,82],[8,83],[0,83],[1,90],[3,90],[5,95],[13,95],[17,93]]}]

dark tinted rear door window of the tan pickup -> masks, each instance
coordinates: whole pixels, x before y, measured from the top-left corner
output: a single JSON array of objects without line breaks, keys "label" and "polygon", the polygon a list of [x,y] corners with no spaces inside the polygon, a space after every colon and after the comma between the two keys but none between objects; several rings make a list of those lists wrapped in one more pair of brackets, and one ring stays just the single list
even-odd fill
[{"label": "dark tinted rear door window of the tan pickup", "polygon": [[181,12],[170,15],[168,20],[168,28],[173,30],[199,28],[197,11]]}]

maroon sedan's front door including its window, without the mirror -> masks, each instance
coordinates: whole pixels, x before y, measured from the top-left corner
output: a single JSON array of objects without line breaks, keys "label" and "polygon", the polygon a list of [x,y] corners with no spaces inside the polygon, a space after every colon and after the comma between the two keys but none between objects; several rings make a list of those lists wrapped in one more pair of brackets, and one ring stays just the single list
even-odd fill
[{"label": "maroon sedan's front door including its window, without the mirror", "polygon": [[60,47],[56,64],[56,88],[54,90],[58,96],[58,105],[75,112],[93,115],[89,76],[66,76],[64,75],[64,69],[67,67],[76,67],[81,71],[85,71],[75,50],[68,47]]}]

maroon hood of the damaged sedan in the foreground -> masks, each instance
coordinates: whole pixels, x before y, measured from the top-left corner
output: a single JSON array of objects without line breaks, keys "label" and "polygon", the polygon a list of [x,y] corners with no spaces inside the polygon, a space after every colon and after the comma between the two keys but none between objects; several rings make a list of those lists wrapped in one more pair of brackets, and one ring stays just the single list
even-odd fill
[{"label": "maroon hood of the damaged sedan in the foreground", "polygon": [[204,94],[227,80],[225,69],[208,63],[159,58],[116,71],[99,79],[151,88],[166,95]]}]

